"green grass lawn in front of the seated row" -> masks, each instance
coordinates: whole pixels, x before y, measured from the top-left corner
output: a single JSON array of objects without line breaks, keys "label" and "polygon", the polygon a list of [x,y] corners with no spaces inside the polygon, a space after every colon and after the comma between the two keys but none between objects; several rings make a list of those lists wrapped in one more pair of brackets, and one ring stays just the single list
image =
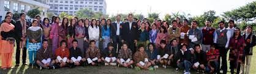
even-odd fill
[{"label": "green grass lawn in front of the seated row", "polygon": [[[254,48],[255,49],[255,48]],[[256,73],[256,51],[254,51],[254,56],[252,56],[252,64],[250,66],[250,73],[255,74]],[[12,58],[13,66],[15,65],[15,53],[13,53]],[[28,63],[28,56],[27,56],[27,63]],[[1,61],[0,61],[1,64]],[[228,62],[229,67],[229,62]],[[181,74],[183,73],[183,70],[179,70],[179,72],[176,72],[174,68],[157,68],[154,71],[149,70],[135,70],[134,68],[124,68],[124,67],[112,67],[112,66],[100,66],[100,67],[75,67],[75,68],[59,68],[56,70],[39,70],[38,68],[31,68],[29,66],[24,66],[20,64],[20,67],[14,67],[7,70],[0,69],[0,74],[53,74],[53,73],[61,73],[61,74]],[[192,74],[195,72],[192,71]],[[230,72],[228,72],[230,73]]]}]

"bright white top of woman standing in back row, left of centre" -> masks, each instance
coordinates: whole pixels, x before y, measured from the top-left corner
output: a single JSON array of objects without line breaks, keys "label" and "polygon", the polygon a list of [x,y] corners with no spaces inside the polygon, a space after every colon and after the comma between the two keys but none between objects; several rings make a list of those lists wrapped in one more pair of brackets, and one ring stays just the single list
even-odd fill
[{"label": "bright white top of woman standing in back row, left of centre", "polygon": [[99,37],[100,37],[100,29],[99,29],[99,26],[89,26],[89,29],[88,29],[88,34],[89,34],[89,40],[99,40]]}]

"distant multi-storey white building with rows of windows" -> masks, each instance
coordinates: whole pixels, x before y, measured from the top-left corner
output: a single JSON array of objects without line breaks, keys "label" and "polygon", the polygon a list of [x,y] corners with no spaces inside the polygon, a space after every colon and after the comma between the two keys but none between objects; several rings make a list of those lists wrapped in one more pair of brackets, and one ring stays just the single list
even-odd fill
[{"label": "distant multi-storey white building with rows of windows", "polygon": [[80,9],[106,14],[107,10],[105,0],[49,0],[48,5],[50,6],[48,12],[53,12],[55,15],[59,15],[61,12],[75,15]]}]

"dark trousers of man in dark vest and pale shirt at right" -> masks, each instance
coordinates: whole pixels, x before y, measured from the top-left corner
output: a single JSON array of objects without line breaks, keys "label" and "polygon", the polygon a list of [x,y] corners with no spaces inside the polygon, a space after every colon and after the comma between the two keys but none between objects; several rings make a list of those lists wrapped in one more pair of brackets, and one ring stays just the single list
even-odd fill
[{"label": "dark trousers of man in dark vest and pale shirt at right", "polygon": [[[219,49],[219,53],[220,53],[220,57],[221,57],[221,67],[220,64],[218,66],[218,73],[220,72],[220,68],[222,68],[223,70],[223,74],[227,73],[227,49],[225,48],[225,46],[217,46]],[[219,62],[220,62],[220,57],[219,57]]]}]

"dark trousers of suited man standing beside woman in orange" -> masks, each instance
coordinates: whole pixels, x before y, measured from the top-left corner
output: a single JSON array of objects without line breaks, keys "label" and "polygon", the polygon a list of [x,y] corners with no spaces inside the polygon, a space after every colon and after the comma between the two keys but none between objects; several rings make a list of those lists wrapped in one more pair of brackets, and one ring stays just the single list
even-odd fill
[{"label": "dark trousers of suited man standing beside woman in orange", "polygon": [[17,48],[16,48],[16,64],[20,64],[20,50],[22,50],[22,63],[25,64],[26,63],[26,56],[27,56],[27,48],[24,47],[22,49],[20,49],[20,41],[16,40],[16,44],[17,44]]}]

